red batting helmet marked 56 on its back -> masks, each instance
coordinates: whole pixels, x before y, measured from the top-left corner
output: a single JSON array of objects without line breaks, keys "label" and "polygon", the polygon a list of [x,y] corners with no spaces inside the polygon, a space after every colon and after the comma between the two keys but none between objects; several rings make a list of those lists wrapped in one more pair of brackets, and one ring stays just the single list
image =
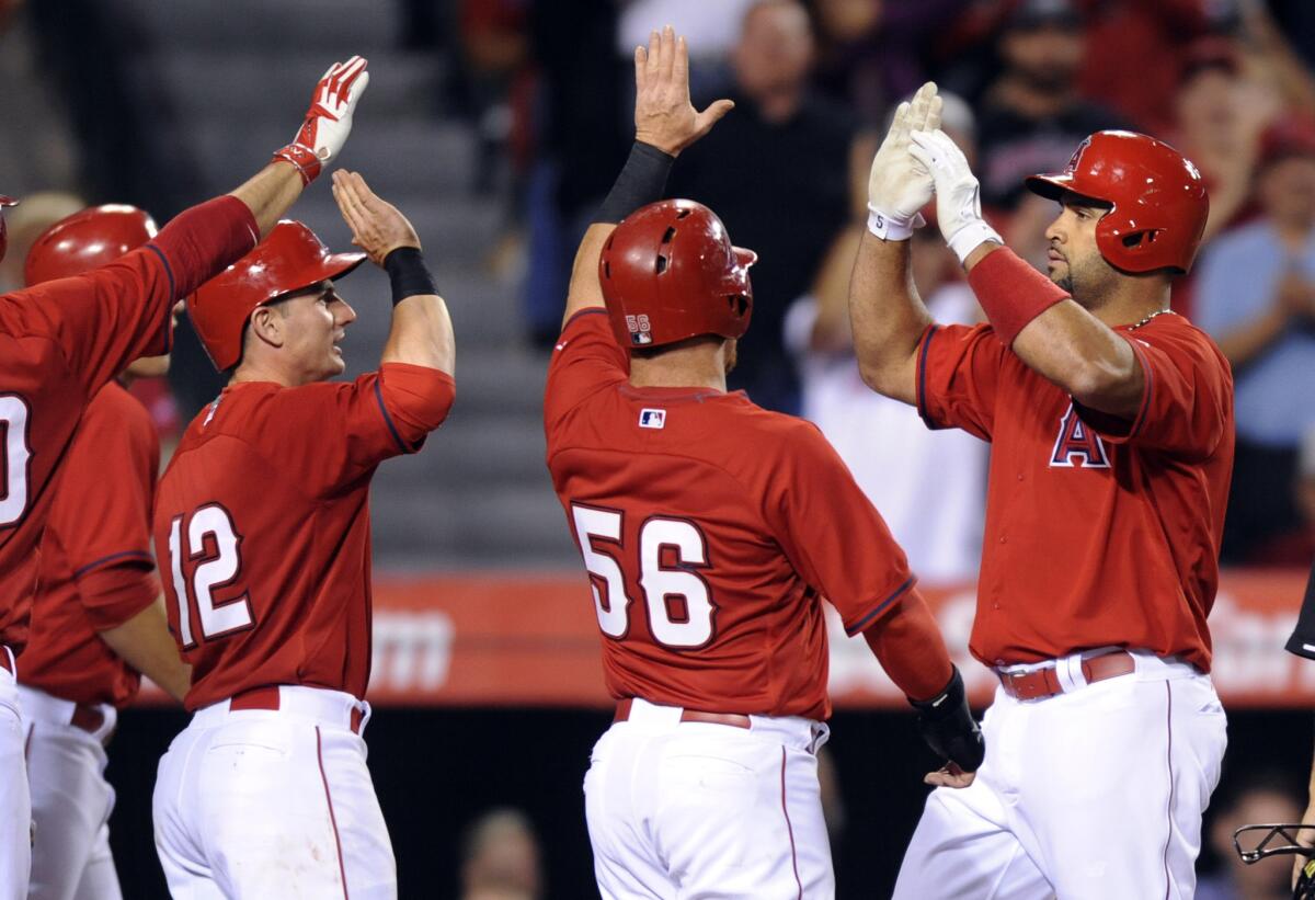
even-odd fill
[{"label": "red batting helmet marked 56 on its back", "polygon": [[623,347],[659,347],[698,334],[738,338],[753,312],[752,250],[693,200],[663,200],[626,216],[598,259],[598,280]]}]

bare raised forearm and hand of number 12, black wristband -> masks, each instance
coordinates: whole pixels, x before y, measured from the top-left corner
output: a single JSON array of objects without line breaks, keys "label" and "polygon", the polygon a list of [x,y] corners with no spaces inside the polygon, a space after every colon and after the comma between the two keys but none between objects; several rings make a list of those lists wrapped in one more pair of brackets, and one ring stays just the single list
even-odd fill
[{"label": "bare raised forearm and hand of number 12, black wristband", "polygon": [[393,286],[393,326],[380,362],[454,375],[452,320],[425,266],[416,229],[396,207],[375,196],[359,172],[334,172],[333,196],[351,228],[351,242],[388,272]]}]

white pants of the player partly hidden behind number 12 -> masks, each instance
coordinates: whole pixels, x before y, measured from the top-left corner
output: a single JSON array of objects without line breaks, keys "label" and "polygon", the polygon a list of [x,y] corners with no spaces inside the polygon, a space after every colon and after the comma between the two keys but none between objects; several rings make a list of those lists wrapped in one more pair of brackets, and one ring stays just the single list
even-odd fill
[{"label": "white pants of the player partly hidden behind number 12", "polygon": [[118,900],[118,872],[109,853],[114,788],[105,780],[105,741],[117,711],[103,704],[101,725],[71,725],[74,703],[18,686],[26,725],[32,789],[29,900]]}]

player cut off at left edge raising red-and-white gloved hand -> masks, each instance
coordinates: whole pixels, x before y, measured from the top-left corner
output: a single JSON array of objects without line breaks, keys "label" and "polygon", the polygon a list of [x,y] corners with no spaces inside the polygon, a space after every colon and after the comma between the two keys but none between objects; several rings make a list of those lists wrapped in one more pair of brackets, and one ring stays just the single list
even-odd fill
[{"label": "player cut off at left edge raising red-and-white gloved hand", "polygon": [[[364,70],[360,58],[330,67],[293,142],[231,193],[95,272],[0,296],[0,900],[28,889],[32,801],[14,657],[28,639],[37,545],[74,429],[128,363],[168,350],[174,303],[249,251],[342,149]],[[0,251],[3,238],[0,226]]]}]

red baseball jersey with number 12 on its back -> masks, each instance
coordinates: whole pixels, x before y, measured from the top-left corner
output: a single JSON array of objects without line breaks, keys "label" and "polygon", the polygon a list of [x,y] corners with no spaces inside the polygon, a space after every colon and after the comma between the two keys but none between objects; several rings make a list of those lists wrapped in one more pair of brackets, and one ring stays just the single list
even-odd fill
[{"label": "red baseball jersey with number 12 on its back", "polygon": [[364,697],[370,682],[370,479],[431,428],[388,403],[454,392],[385,363],[355,382],[229,386],[160,478],[155,553],[197,709],[270,684]]}]

